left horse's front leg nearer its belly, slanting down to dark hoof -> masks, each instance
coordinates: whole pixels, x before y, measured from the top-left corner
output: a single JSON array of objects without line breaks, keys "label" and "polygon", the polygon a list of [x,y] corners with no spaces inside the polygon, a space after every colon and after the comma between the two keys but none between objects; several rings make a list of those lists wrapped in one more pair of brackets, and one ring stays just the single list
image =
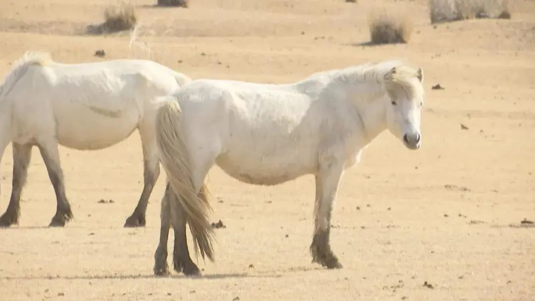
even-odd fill
[{"label": "left horse's front leg nearer its belly, slanting down to dark hoof", "polygon": [[39,150],[43,157],[44,165],[47,166],[50,182],[56,193],[56,214],[50,221],[50,227],[63,227],[67,221],[73,219],[71,205],[68,203],[65,194],[65,182],[63,171],[60,166],[58,143],[56,140],[48,140],[39,143]]}]

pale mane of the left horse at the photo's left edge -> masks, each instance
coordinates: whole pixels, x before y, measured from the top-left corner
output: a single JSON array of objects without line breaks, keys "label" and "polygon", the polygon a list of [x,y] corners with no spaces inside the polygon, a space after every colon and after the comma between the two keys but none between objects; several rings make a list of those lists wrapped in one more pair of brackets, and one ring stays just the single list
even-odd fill
[{"label": "pale mane of the left horse at the photo's left edge", "polygon": [[52,58],[48,52],[26,51],[22,57],[15,61],[10,73],[7,74],[4,82],[0,86],[0,102],[4,99],[19,81],[30,66],[46,66],[52,63]]}]

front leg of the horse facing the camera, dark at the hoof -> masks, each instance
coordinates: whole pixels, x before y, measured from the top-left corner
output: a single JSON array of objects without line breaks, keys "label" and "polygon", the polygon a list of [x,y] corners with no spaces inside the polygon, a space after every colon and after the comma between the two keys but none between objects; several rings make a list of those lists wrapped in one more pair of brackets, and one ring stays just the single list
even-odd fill
[{"label": "front leg of the horse facing the camera, dark at the hoof", "polygon": [[320,165],[316,175],[316,204],[314,209],[314,236],[310,245],[312,262],[327,268],[341,268],[331,250],[331,213],[343,174],[343,163],[332,159]]}]

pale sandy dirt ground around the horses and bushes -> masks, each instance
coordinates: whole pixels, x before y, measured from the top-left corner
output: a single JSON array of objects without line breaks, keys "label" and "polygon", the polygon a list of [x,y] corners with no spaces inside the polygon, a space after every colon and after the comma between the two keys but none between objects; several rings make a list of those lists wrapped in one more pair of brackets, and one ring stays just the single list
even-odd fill
[{"label": "pale sandy dirt ground around the horses and bushes", "polygon": [[[56,200],[34,150],[20,223],[0,229],[0,299],[535,300],[535,228],[519,227],[535,220],[534,1],[516,1],[511,20],[437,26],[425,0],[154,3],[136,1],[140,27],[130,43],[128,33],[84,32],[110,1],[0,0],[0,75],[26,50],[65,63],[151,58],[192,78],[272,83],[402,58],[425,73],[423,148],[407,150],[384,133],[347,171],[332,230],[344,267],[335,271],[308,252],[312,176],[258,187],[213,168],[211,219],[226,228],[216,230],[216,262],[200,259],[196,279],[152,274],[164,176],[147,226],[123,228],[142,189],[136,133],[102,151],[60,149],[75,215],[65,228],[46,227]],[[408,44],[366,45],[373,5],[408,13]],[[432,90],[437,83],[445,89]],[[8,148],[1,212],[11,168]]]}]

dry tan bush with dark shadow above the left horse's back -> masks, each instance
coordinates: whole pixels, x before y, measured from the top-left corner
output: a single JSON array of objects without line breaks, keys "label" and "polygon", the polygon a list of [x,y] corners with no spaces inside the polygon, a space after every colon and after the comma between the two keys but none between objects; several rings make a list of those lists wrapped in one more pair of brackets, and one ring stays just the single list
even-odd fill
[{"label": "dry tan bush with dark shadow above the left horse's back", "polygon": [[125,2],[118,6],[109,7],[104,11],[104,22],[98,25],[88,26],[91,34],[103,34],[121,32],[135,28],[137,17],[135,6]]}]

